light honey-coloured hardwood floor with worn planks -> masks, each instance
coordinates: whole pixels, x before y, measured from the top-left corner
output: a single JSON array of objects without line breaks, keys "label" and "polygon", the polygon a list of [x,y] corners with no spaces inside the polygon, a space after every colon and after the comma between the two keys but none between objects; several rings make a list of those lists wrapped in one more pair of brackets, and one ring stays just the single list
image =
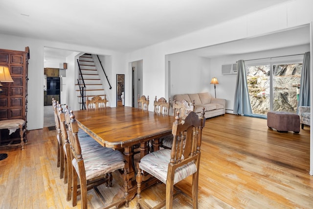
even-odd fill
[{"label": "light honey-coloured hardwood floor with worn planks", "polygon": [[[55,131],[32,130],[20,148],[1,149],[8,158],[0,161],[0,208],[66,209],[66,186],[56,166]],[[202,135],[199,182],[200,209],[289,209],[313,208],[313,177],[310,169],[310,127],[299,134],[268,129],[267,120],[226,114],[206,120]],[[114,175],[111,189],[118,191],[122,180]],[[180,182],[191,188],[191,178]],[[115,190],[114,190],[115,189]],[[188,194],[189,191],[186,191]],[[110,196],[110,195],[108,195]],[[165,198],[165,186],[156,184],[142,192],[156,205]],[[101,206],[89,191],[88,207]],[[129,208],[135,207],[135,198]],[[80,208],[80,199],[74,209]],[[123,209],[125,207],[122,207]],[[174,208],[189,209],[184,196]]]}]

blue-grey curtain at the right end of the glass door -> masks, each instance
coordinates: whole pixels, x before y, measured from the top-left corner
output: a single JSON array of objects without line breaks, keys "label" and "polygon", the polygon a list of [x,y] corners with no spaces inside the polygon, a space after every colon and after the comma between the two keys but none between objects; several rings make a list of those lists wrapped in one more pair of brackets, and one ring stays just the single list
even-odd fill
[{"label": "blue-grey curtain at the right end of the glass door", "polygon": [[310,51],[306,52],[303,58],[298,107],[299,106],[310,106]]}]

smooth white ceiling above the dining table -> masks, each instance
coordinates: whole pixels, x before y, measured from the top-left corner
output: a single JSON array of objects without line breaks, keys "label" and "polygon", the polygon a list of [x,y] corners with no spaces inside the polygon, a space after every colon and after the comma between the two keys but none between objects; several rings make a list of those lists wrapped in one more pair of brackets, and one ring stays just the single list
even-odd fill
[{"label": "smooth white ceiling above the dining table", "polygon": [[129,52],[285,1],[0,0],[0,33]]}]

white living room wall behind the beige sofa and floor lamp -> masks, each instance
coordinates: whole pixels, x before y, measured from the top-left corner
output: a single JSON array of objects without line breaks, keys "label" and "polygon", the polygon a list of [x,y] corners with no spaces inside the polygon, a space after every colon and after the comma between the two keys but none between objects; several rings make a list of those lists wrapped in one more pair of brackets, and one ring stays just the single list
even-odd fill
[{"label": "white living room wall behind the beige sofa and floor lamp", "polygon": [[[309,44],[234,56],[221,56],[212,59],[195,56],[189,52],[167,55],[168,60],[171,62],[171,99],[173,101],[173,95],[180,93],[209,92],[214,97],[214,86],[210,85],[210,81],[212,77],[217,77],[219,84],[216,85],[216,96],[217,98],[226,99],[226,112],[233,113],[237,74],[223,75],[222,65],[233,64],[238,60],[288,56],[303,54],[307,51],[310,51]],[[291,57],[288,58],[291,59]],[[260,61],[251,62],[257,63]],[[181,82],[181,80],[184,82]],[[158,97],[161,96],[159,95]]]}]

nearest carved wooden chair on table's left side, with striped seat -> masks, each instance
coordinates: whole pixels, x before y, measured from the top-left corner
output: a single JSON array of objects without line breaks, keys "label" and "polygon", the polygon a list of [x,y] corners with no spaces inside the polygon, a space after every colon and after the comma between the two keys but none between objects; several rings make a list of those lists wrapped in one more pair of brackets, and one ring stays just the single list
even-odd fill
[{"label": "nearest carved wooden chair on table's left side, with striped seat", "polygon": [[[81,207],[82,209],[87,209],[87,191],[93,188],[104,202],[103,195],[96,186],[104,183],[111,185],[112,177],[108,176],[108,174],[115,170],[124,169],[125,159],[120,151],[107,147],[97,148],[88,146],[88,149],[83,149],[78,136],[78,124],[72,110],[70,111],[70,130],[72,137],[69,137],[68,139],[73,157],[72,205],[76,206],[77,194],[80,194]],[[124,178],[126,178],[126,172],[124,172],[124,175]],[[79,190],[77,184],[78,179],[80,183]],[[126,197],[128,194],[128,186],[125,186],[124,188]],[[113,199],[111,203],[105,203],[105,208],[111,208],[118,204],[121,204],[121,200],[118,198],[116,200]]]}]

